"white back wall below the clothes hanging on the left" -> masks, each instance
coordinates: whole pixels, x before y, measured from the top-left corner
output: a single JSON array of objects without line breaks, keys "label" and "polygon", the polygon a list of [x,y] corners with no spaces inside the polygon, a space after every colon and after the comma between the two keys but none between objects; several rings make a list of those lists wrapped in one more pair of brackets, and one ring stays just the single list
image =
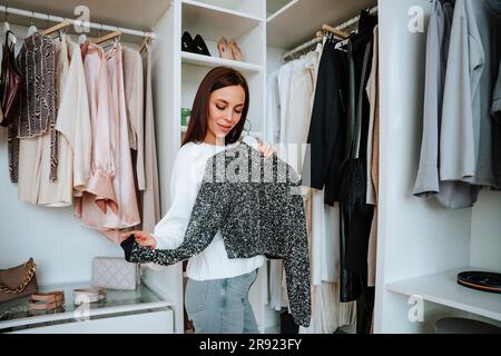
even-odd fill
[{"label": "white back wall below the clothes hanging on the left", "polygon": [[[19,50],[27,28],[11,24],[11,29],[19,37]],[[96,256],[124,256],[119,246],[82,227],[72,207],[46,208],[18,200],[17,186],[9,179],[6,128],[0,128],[0,268],[33,257],[39,284],[66,284],[90,280]]]}]

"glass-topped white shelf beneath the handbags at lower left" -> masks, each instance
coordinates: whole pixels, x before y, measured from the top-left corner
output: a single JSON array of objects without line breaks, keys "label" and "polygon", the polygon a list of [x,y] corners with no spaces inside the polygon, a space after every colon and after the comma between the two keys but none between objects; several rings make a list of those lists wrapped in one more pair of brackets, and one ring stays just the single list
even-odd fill
[{"label": "glass-topped white shelf beneath the handbags at lower left", "polygon": [[[7,320],[0,320],[0,330],[19,326],[36,325],[41,323],[75,320],[76,310],[78,309],[78,306],[73,305],[72,290],[89,287],[90,287],[89,283],[39,287],[39,293],[63,290],[65,308],[61,312],[57,313],[51,312],[17,313],[12,318],[9,318]],[[9,300],[1,305],[0,315],[2,315],[4,312],[9,309],[26,306],[28,306],[28,297]],[[138,286],[136,290],[108,289],[106,301],[89,304],[88,316],[89,318],[92,318],[96,316],[117,315],[143,310],[146,312],[150,309],[158,309],[171,306],[173,303],[169,303],[168,300],[163,300],[149,287],[147,287],[145,284],[141,284],[140,286]]]}]

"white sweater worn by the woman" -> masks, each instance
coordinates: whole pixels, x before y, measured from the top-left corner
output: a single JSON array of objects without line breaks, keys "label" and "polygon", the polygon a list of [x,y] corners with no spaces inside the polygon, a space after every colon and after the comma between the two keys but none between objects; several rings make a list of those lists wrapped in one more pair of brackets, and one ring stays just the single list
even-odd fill
[{"label": "white sweater worn by the woman", "polygon": [[[157,240],[157,249],[174,249],[181,245],[207,160],[235,146],[220,147],[190,142],[179,149],[170,181],[173,204],[153,234]],[[259,268],[263,263],[264,256],[229,259],[223,235],[217,231],[209,246],[189,259],[186,273],[188,278],[195,280],[233,278]]]}]

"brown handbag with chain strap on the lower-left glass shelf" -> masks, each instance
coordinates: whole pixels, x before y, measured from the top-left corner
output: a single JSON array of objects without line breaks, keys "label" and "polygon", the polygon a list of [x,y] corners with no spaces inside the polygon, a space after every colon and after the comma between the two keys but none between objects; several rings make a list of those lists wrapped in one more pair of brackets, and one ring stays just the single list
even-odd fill
[{"label": "brown handbag with chain strap on the lower-left glass shelf", "polygon": [[32,258],[21,266],[0,269],[0,303],[37,293],[36,269]]}]

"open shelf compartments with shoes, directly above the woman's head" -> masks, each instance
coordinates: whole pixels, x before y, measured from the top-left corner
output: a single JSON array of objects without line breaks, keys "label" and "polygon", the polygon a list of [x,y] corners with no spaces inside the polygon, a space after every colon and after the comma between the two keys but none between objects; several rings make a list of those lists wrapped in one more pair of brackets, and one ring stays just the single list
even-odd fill
[{"label": "open shelf compartments with shoes, directly above the woman's head", "polygon": [[[191,107],[198,86],[210,69],[218,66],[232,67],[243,72],[248,81],[252,100],[248,118],[253,130],[264,136],[265,2],[184,0],[177,6],[180,7],[181,17],[180,29],[177,29],[179,37],[184,31],[188,31],[191,37],[200,34],[212,55],[208,57],[183,52],[175,47],[174,55],[181,62],[181,107]],[[237,41],[245,62],[219,58],[217,42],[223,37]]]}]

